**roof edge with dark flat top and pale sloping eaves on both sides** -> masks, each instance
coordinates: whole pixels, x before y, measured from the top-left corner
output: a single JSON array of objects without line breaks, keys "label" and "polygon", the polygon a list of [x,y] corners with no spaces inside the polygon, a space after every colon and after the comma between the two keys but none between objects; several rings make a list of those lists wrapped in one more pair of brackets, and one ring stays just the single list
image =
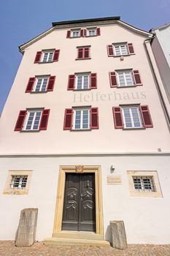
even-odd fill
[{"label": "roof edge with dark flat top and pale sloping eaves on both sides", "polygon": [[66,20],[66,21],[53,22],[52,28],[47,29],[47,31],[43,32],[42,34],[39,34],[37,37],[34,37],[33,39],[29,40],[23,45],[20,45],[19,50],[21,53],[23,53],[25,48],[27,48],[29,45],[34,44],[34,42],[38,41],[39,39],[42,39],[42,37],[45,37],[47,34],[50,34],[55,29],[66,29],[66,28],[70,29],[70,28],[80,27],[80,26],[107,25],[107,24],[113,24],[113,23],[120,24],[120,26],[124,26],[126,29],[134,31],[137,34],[142,34],[144,37],[152,37],[152,34],[150,32],[144,31],[142,29],[138,29],[135,26],[131,26],[128,23],[125,23],[124,21],[120,20],[120,16],[105,17],[105,18],[90,18],[90,19],[83,19],[83,20]]}]

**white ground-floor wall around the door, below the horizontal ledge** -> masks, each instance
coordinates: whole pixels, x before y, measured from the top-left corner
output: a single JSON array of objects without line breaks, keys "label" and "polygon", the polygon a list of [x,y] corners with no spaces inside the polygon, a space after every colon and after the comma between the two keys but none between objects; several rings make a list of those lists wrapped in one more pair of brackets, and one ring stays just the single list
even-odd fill
[{"label": "white ground-floor wall around the door, below the horizontal ledge", "polygon": [[[20,211],[39,208],[36,240],[51,237],[58,188],[59,165],[101,165],[104,236],[110,239],[109,221],[123,220],[128,244],[169,244],[170,191],[168,156],[26,157],[1,158],[0,239],[15,238]],[[110,166],[115,172],[110,173]],[[28,195],[3,195],[8,170],[33,170]],[[163,197],[131,197],[127,170],[157,170]],[[118,175],[121,185],[107,185]],[[3,211],[2,211],[3,209]]]}]

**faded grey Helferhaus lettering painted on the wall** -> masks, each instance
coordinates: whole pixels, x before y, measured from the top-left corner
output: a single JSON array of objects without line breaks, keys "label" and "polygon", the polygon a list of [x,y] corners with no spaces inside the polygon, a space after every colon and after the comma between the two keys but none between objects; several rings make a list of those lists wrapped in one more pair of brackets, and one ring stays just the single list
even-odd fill
[{"label": "faded grey Helferhaus lettering painted on the wall", "polygon": [[74,93],[73,102],[99,102],[99,101],[120,101],[127,99],[146,99],[144,91],[129,91],[124,93],[112,92],[111,94],[103,94],[101,92]]}]

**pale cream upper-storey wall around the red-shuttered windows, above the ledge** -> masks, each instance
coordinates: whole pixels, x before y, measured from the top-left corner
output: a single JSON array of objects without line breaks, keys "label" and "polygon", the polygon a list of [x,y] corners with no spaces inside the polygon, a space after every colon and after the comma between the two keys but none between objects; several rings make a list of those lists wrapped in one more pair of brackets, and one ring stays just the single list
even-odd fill
[{"label": "pale cream upper-storey wall around the red-shuttered windows, above the ledge", "polygon": [[[1,154],[155,152],[158,148],[169,151],[169,130],[144,50],[146,38],[117,24],[100,27],[100,37],[67,39],[67,29],[58,29],[26,48],[1,115]],[[123,61],[120,61],[120,58],[109,58],[107,45],[112,42],[132,42],[136,54],[125,56]],[[90,60],[75,61],[77,46],[81,45],[91,45]],[[49,48],[61,49],[59,61],[51,64],[34,64],[36,51]],[[143,86],[111,89],[109,71],[126,68],[139,69]],[[67,91],[68,76],[74,72],[88,71],[97,72],[98,89],[82,91],[80,102],[80,92]],[[28,78],[35,75],[56,75],[54,91],[45,94],[25,93]],[[91,94],[95,99],[92,99]],[[98,100],[96,95],[99,95]],[[153,128],[115,129],[112,107],[120,104],[149,105]],[[63,131],[65,108],[83,105],[98,107],[99,129],[82,132]],[[20,110],[41,107],[50,108],[47,131],[14,132]]]}]

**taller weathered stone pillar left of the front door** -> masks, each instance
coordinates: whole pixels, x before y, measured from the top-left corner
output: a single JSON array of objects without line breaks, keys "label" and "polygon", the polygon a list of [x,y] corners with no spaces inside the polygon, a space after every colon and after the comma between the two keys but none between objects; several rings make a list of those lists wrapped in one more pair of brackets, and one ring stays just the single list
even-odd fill
[{"label": "taller weathered stone pillar left of the front door", "polygon": [[38,208],[26,208],[20,212],[20,222],[15,236],[15,246],[31,246],[36,236]]}]

